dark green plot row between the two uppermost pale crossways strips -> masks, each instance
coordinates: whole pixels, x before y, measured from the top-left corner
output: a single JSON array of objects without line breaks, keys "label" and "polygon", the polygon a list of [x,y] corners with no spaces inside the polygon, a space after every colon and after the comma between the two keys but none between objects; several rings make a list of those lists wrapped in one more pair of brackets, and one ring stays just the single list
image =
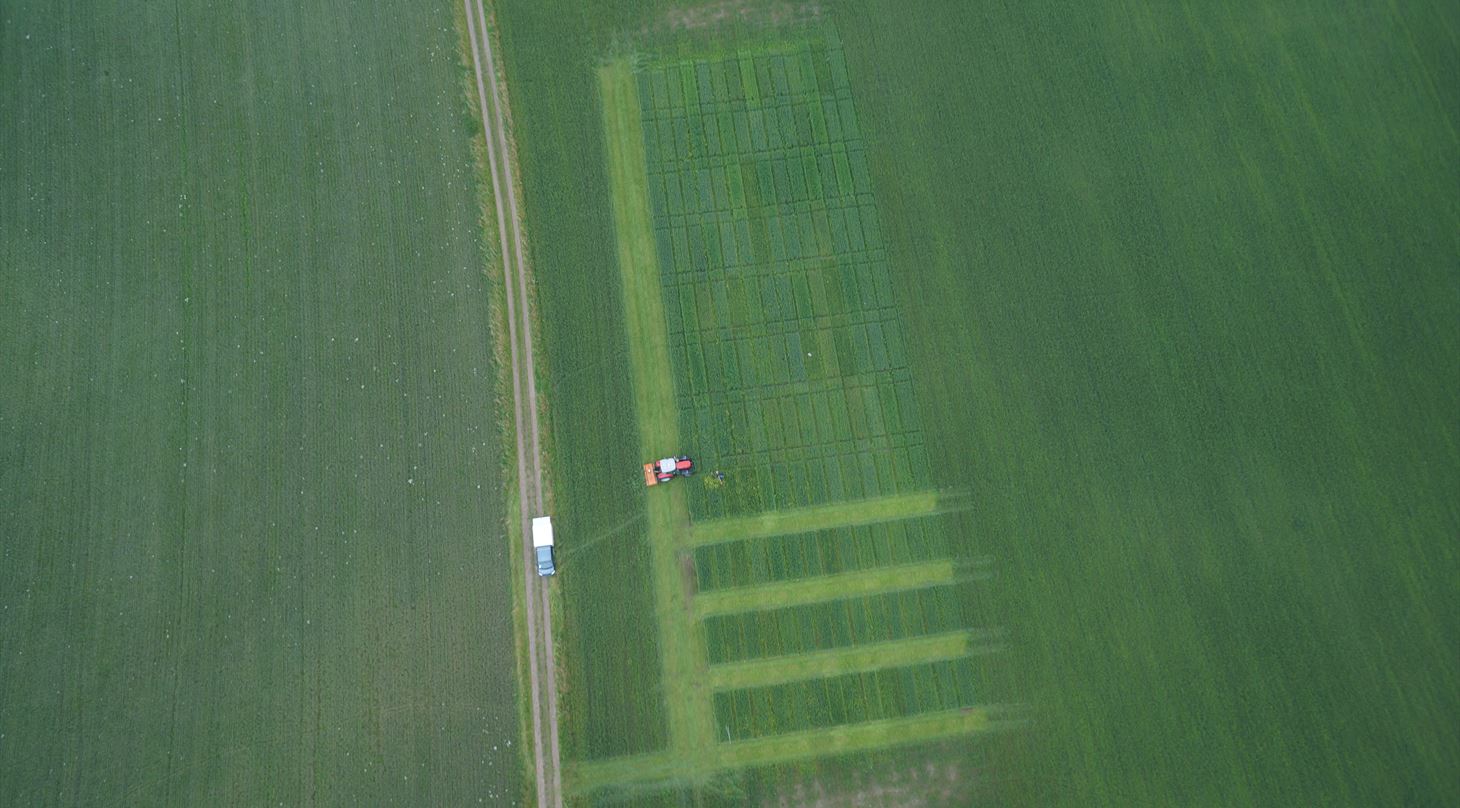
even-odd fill
[{"label": "dark green plot row between the two uppermost pale crossways strips", "polygon": [[948,558],[940,519],[930,516],[704,545],[695,548],[695,580],[701,592],[714,592]]}]

